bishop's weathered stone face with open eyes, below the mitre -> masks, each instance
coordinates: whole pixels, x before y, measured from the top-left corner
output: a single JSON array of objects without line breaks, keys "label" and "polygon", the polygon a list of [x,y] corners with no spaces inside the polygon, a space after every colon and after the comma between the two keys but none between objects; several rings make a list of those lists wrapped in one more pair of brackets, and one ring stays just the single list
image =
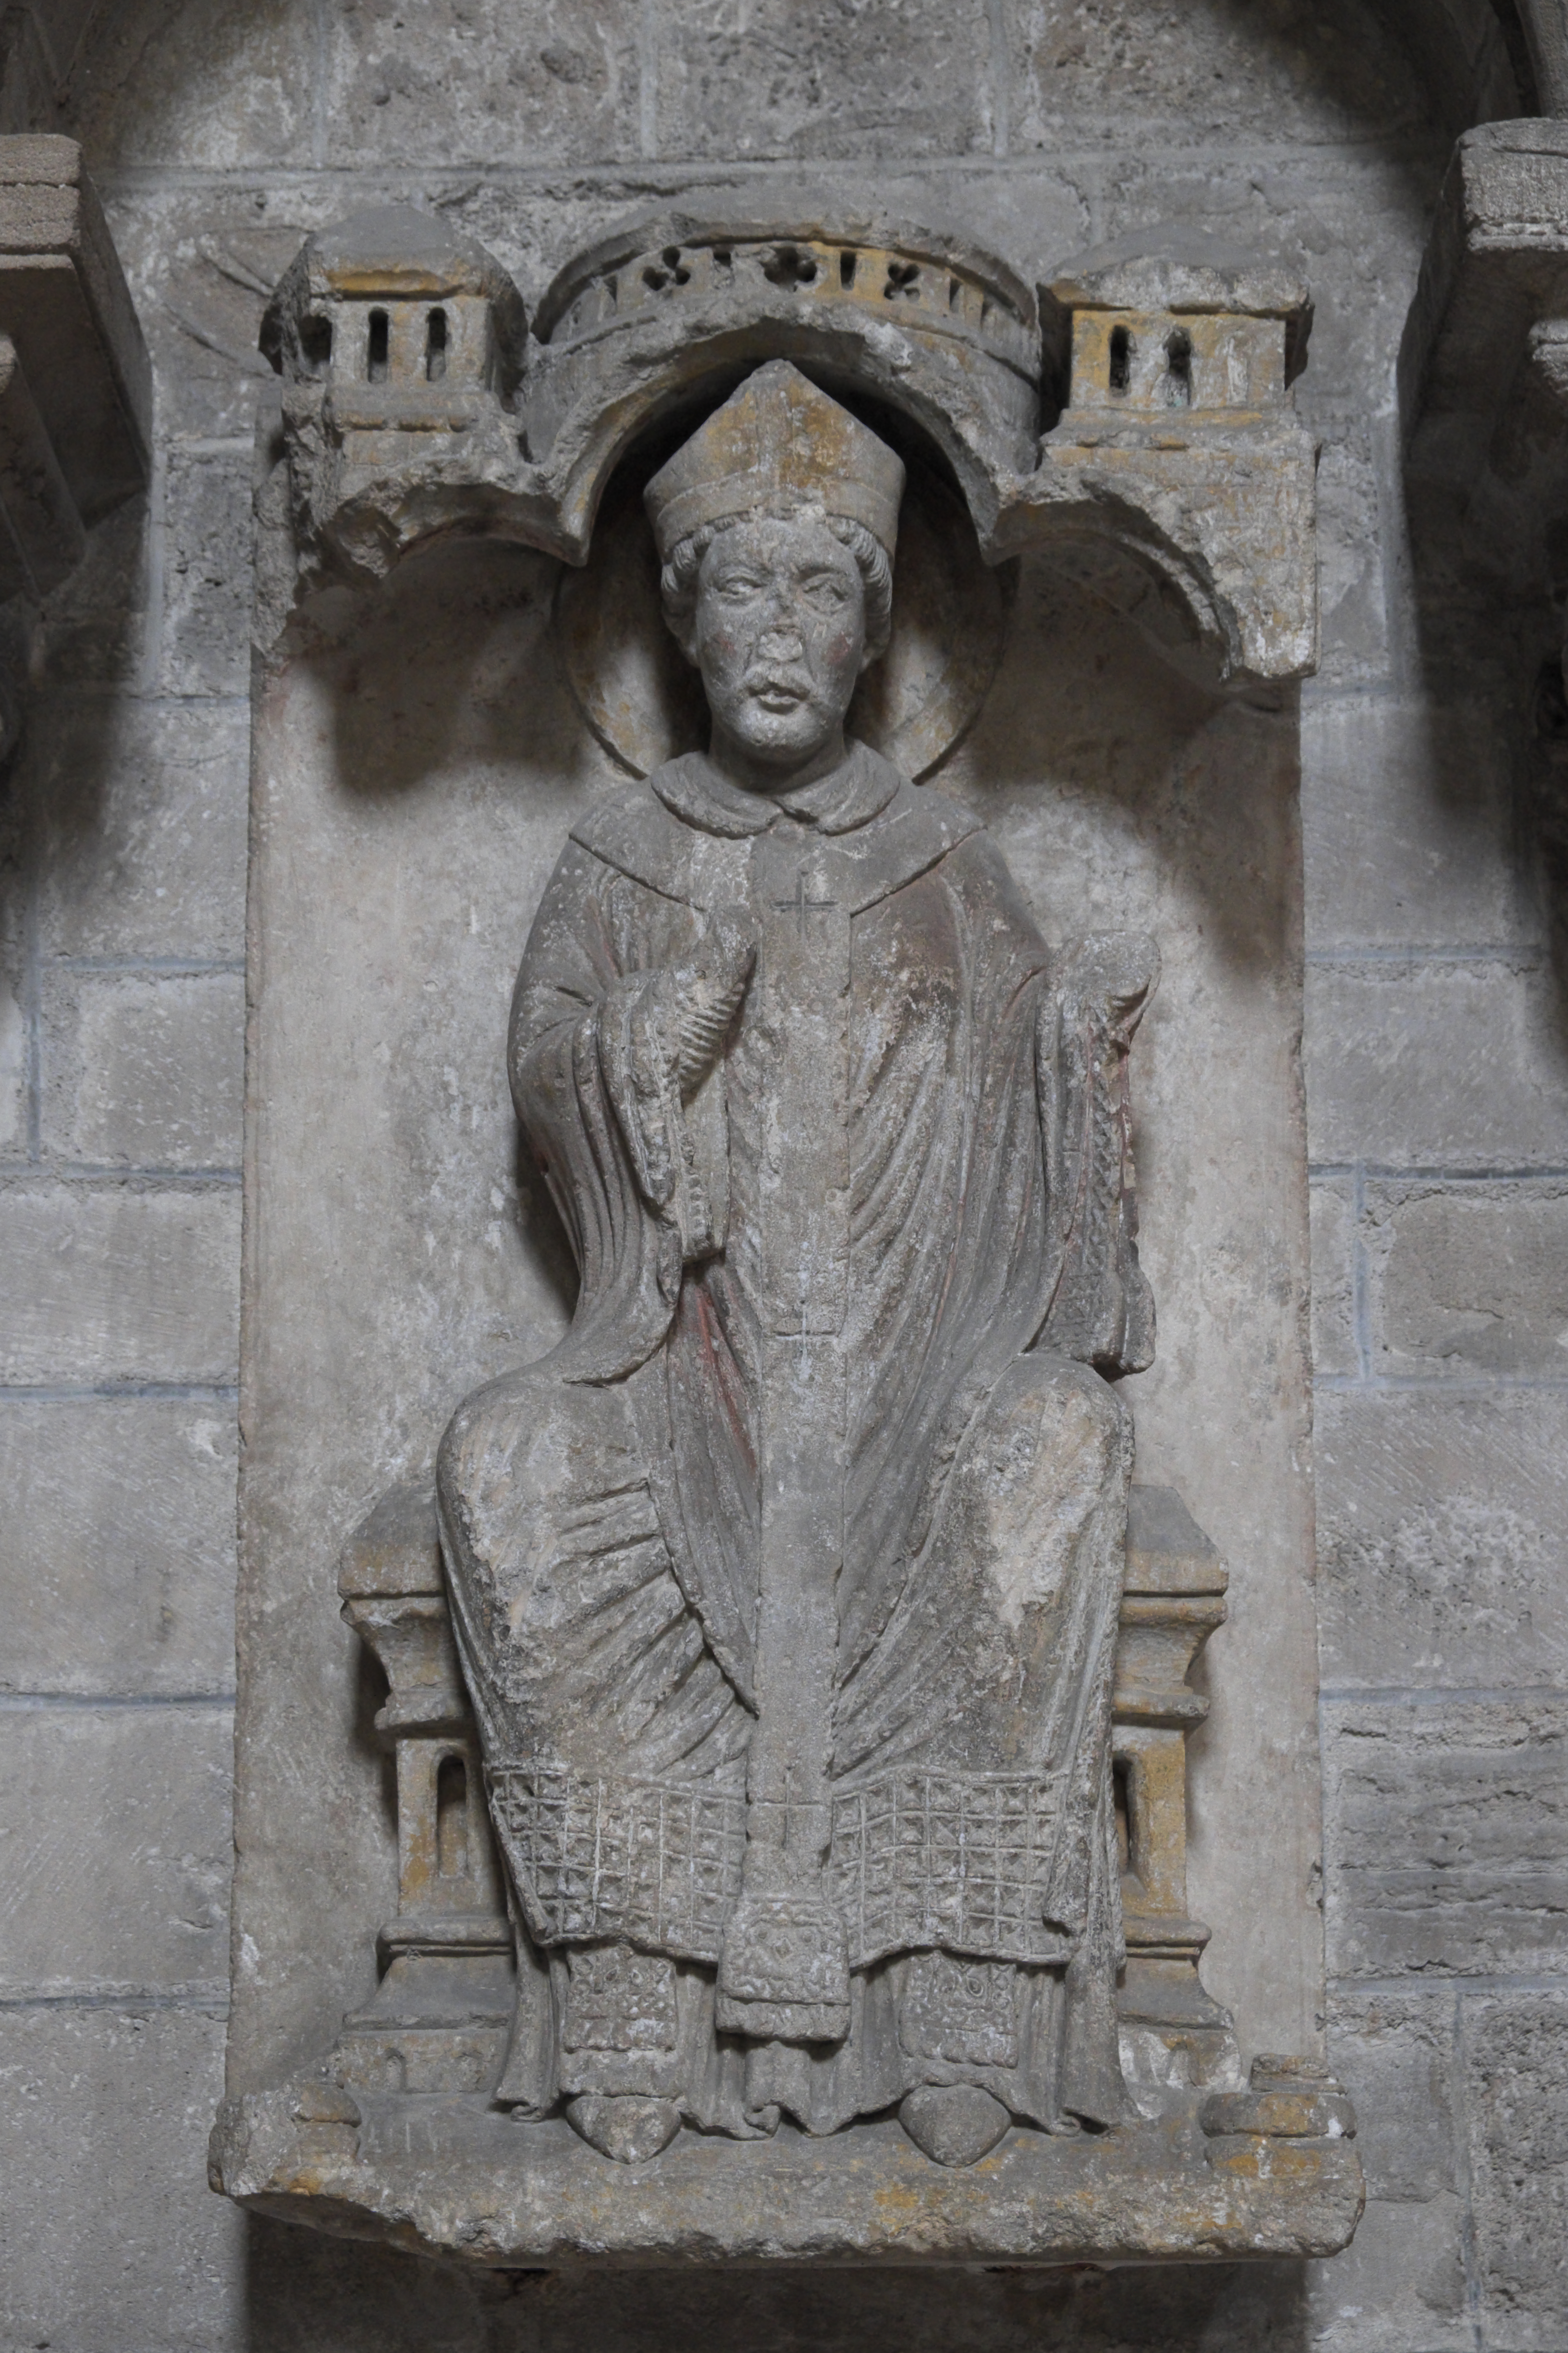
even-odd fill
[{"label": "bishop's weathered stone face with open eyes, below the mitre", "polygon": [[736,522],[698,574],[691,654],[715,725],[764,767],[811,760],[865,666],[860,567],[820,522]]}]

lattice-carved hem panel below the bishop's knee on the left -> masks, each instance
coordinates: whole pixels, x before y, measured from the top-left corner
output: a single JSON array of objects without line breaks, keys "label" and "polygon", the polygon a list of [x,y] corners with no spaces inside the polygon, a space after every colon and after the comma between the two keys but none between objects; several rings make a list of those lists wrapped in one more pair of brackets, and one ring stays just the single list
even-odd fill
[{"label": "lattice-carved hem panel below the bishop's knee on the left", "polygon": [[741,1894],[745,1800],[675,1781],[595,1781],[491,1765],[489,1807],[538,1944],[630,1944],[719,1958]]}]

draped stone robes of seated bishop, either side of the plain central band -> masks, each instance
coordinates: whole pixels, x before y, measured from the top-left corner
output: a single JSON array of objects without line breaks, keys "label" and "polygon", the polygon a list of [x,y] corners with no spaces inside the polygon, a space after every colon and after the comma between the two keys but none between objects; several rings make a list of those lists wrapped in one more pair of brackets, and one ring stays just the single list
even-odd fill
[{"label": "draped stone robes of seated bishop, either side of the plain central band", "polygon": [[[792,1329],[769,1217],[795,1040],[736,941],[780,918],[804,941],[818,908],[849,944],[849,1056],[818,1113],[846,1172],[842,1308],[813,1341],[844,1384],[825,1873],[856,1974],[835,2054],[715,2040],[703,1977],[745,1842],[764,1386]],[[717,2129],[780,2108],[837,2129],[964,2080],[1041,2125],[1121,2113],[1110,1675],[1131,1426],[1103,1377],[1152,1355],[1126,1111],[1152,979],[1145,941],[1051,955],[973,816],[860,746],[780,800],[686,758],[576,828],[508,1049],[576,1315],[550,1358],[468,1400],[442,1452],[522,1991],[552,2017],[520,2017],[524,2106],[658,2080]],[[611,1847],[625,1866],[602,1878]],[[705,1873],[698,1911],[670,1911],[675,1868]],[[658,2064],[562,2040],[588,1948],[665,1955]],[[628,2000],[654,2000],[644,1979]],[[978,2024],[966,2040],[926,2017]]]}]

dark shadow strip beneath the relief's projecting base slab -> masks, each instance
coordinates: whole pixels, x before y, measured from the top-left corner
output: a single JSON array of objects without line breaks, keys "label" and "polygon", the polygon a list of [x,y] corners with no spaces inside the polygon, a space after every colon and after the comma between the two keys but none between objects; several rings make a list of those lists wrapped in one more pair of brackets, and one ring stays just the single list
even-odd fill
[{"label": "dark shadow strip beneath the relief's projecting base slab", "polygon": [[1305,2353],[1302,2264],[470,2273],[249,2221],[249,2353]]}]

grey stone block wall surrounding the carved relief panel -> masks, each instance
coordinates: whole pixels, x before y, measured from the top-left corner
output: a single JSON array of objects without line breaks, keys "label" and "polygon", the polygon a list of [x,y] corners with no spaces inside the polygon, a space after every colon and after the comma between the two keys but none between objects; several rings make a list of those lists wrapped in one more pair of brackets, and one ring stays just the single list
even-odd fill
[{"label": "grey stone block wall surrounding the carved relief panel", "polygon": [[[158,365],[148,499],[38,616],[0,795],[5,2353],[1568,2346],[1568,1033],[1533,845],[1540,614],[1406,515],[1394,351],[1497,19],[1354,0],[12,7]],[[1436,38],[1436,35],[1434,35]],[[1436,56],[1436,47],[1432,49]],[[1302,699],[1331,1972],[1371,2205],[1335,2264],[447,2278],[202,2184],[226,2007],[249,464],[266,289],[411,198],[524,294],[618,214],[809,160],[1023,271],[1154,221],[1319,322]],[[780,174],[783,167],[783,174]],[[527,249],[487,191],[531,198]]]}]

